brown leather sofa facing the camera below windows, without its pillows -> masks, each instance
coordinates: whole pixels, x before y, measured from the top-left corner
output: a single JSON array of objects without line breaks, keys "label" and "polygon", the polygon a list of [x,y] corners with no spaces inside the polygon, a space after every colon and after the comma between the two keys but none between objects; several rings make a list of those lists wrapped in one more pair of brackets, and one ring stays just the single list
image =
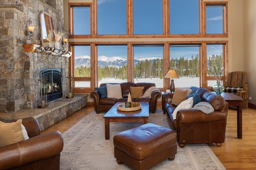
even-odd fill
[{"label": "brown leather sofa facing the camera below windows, without its pillows", "polygon": [[[106,84],[118,84],[118,83],[102,83],[100,87],[106,86]],[[100,99],[100,93],[98,91],[93,91],[90,94],[90,97],[94,100],[94,109],[96,113],[99,112],[107,112],[111,109],[111,107],[117,102],[125,102],[127,101],[128,94],[130,92],[130,87],[142,87],[144,86],[143,92],[148,90],[148,88],[156,86],[155,83],[132,83],[132,82],[124,82],[120,83],[121,91],[123,98],[115,99],[115,98],[102,98]],[[149,111],[152,113],[156,112],[157,109],[157,99],[161,97],[160,91],[153,91],[151,94],[151,98],[142,97],[137,99],[132,99],[135,102],[148,102],[149,103]]]}]

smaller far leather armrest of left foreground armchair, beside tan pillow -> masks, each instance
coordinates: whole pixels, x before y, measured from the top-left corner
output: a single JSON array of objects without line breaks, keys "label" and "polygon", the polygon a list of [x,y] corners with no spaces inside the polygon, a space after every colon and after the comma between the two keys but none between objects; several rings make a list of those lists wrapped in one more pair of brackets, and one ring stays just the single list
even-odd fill
[{"label": "smaller far leather armrest of left foreground armchair, beside tan pillow", "polygon": [[40,135],[39,124],[35,117],[23,118],[22,125],[26,128],[28,137],[32,138],[37,135]]}]

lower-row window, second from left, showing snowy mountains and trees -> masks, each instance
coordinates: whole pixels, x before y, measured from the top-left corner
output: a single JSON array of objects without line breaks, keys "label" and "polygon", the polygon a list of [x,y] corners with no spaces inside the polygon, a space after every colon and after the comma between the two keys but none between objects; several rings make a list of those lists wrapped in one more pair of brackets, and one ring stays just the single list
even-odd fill
[{"label": "lower-row window, second from left, showing snowy mountains and trees", "polygon": [[97,45],[98,84],[127,82],[127,45]]}]

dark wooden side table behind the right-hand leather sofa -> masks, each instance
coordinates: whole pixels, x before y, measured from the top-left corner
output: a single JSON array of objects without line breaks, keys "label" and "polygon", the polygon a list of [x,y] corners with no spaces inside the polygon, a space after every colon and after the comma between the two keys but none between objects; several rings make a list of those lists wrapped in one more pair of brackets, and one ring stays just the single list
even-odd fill
[{"label": "dark wooden side table behind the right-hand leather sofa", "polygon": [[228,102],[229,106],[237,107],[237,138],[242,139],[242,97],[229,94],[226,92],[221,93],[221,96]]}]

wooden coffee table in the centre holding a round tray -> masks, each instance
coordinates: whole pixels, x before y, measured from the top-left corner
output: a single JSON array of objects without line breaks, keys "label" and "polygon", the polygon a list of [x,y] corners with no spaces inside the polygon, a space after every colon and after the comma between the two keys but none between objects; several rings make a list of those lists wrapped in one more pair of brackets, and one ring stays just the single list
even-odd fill
[{"label": "wooden coffee table in the centre holding a round tray", "polygon": [[139,111],[125,112],[117,110],[116,103],[104,116],[105,119],[105,139],[110,139],[110,122],[144,122],[148,123],[149,103],[139,102],[141,109]]}]

